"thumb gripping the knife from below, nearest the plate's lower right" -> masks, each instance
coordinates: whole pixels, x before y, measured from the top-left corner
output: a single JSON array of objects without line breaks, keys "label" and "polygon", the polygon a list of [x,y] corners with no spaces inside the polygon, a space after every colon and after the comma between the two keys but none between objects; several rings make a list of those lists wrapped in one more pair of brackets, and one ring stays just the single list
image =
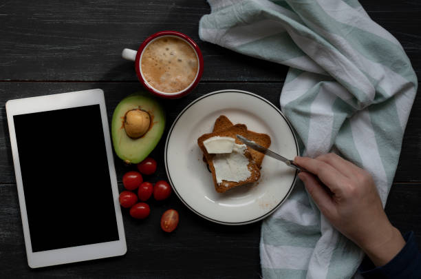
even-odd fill
[{"label": "thumb gripping the knife from below, nearest the plate's lower right", "polygon": [[328,194],[319,181],[307,172],[300,172],[299,178],[303,180],[305,189],[312,196],[314,203],[319,207],[320,211],[326,216],[334,213],[335,207],[330,194]]}]

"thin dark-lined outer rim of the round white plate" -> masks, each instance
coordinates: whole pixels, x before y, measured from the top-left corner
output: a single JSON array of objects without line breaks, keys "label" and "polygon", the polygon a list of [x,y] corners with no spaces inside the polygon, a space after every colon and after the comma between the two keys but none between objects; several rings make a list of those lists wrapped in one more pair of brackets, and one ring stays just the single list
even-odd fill
[{"label": "thin dark-lined outer rim of the round white plate", "polygon": [[213,223],[218,223],[218,224],[222,224],[222,225],[247,225],[247,224],[251,224],[251,223],[255,223],[258,222],[259,220],[262,220],[268,216],[270,216],[272,213],[274,213],[274,211],[276,211],[284,202],[285,200],[288,198],[288,196],[290,196],[292,189],[294,189],[294,186],[296,184],[296,178],[298,176],[298,170],[295,171],[294,174],[294,180],[292,180],[292,183],[290,185],[290,189],[288,189],[288,193],[283,197],[283,199],[275,206],[273,207],[270,211],[268,211],[266,214],[263,214],[262,216],[259,216],[257,218],[254,218],[252,220],[246,220],[246,221],[242,221],[242,222],[225,222],[225,221],[221,221],[221,220],[216,220],[214,218],[210,218],[208,216],[205,216],[204,214],[199,213],[198,211],[196,211],[195,209],[193,209],[193,207],[191,207],[190,205],[188,205],[188,203],[186,203],[186,201],[182,198],[182,196],[177,192],[177,189],[174,187],[174,183],[171,180],[171,176],[169,174],[169,167],[168,167],[168,161],[167,161],[167,152],[168,152],[168,143],[169,143],[169,139],[171,138],[171,134],[174,130],[175,125],[177,124],[177,122],[179,121],[180,117],[184,114],[184,112],[186,112],[186,110],[188,110],[191,106],[193,106],[195,103],[197,103],[198,101],[201,101],[202,99],[205,99],[209,96],[213,96],[216,94],[221,94],[221,93],[226,93],[226,92],[234,92],[234,93],[241,93],[241,94],[247,94],[250,96],[254,96],[257,99],[260,99],[261,101],[268,103],[268,105],[270,105],[271,107],[274,108],[274,110],[276,110],[281,116],[282,118],[285,120],[285,122],[287,123],[288,127],[290,128],[290,131],[292,133],[292,136],[294,137],[294,142],[295,142],[295,148],[296,148],[296,154],[298,154],[299,156],[299,144],[296,138],[296,134],[294,132],[294,128],[292,127],[290,121],[288,121],[288,119],[285,117],[285,115],[283,114],[283,112],[281,112],[281,110],[279,110],[278,107],[276,107],[276,105],[274,105],[273,103],[271,103],[270,101],[268,101],[267,99],[263,98],[262,96],[259,96],[255,93],[252,92],[248,92],[245,90],[230,90],[230,89],[226,89],[226,90],[217,90],[217,91],[213,91],[213,92],[209,92],[208,94],[204,94],[203,96],[200,96],[199,98],[191,101],[191,103],[188,103],[188,105],[186,105],[186,107],[184,107],[184,109],[180,112],[180,114],[177,115],[177,117],[174,119],[173,124],[171,125],[169,132],[166,136],[166,141],[165,141],[165,147],[164,147],[164,164],[165,164],[165,171],[166,171],[166,176],[169,179],[169,183],[171,185],[171,187],[173,188],[173,191],[175,192],[175,194],[177,195],[178,198],[180,198],[180,200],[182,201],[182,203],[184,203],[184,205],[186,205],[186,207],[188,209],[190,209],[191,211],[193,211],[195,214],[197,214],[198,216],[205,218],[206,220],[210,220]]}]

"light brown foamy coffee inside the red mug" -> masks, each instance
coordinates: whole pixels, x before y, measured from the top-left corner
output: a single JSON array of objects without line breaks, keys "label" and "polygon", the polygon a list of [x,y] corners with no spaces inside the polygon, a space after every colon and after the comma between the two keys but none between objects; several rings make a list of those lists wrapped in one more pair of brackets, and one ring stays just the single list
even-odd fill
[{"label": "light brown foamy coffee inside the red mug", "polygon": [[186,89],[197,76],[199,62],[195,50],[182,39],[155,39],[142,53],[140,70],[151,87],[165,93]]}]

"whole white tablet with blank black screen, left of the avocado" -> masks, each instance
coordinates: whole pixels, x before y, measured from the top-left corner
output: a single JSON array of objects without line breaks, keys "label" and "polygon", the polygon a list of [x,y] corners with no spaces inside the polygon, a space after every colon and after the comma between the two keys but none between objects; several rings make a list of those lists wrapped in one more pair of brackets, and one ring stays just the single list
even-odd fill
[{"label": "whole white tablet with blank black screen, left of the avocado", "polygon": [[32,268],[126,253],[104,92],[6,103]]}]

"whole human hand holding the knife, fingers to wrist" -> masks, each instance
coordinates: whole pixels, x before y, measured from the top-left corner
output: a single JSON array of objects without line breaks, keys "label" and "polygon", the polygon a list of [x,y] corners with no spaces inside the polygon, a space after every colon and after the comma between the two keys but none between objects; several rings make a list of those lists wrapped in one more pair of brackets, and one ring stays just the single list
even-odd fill
[{"label": "whole human hand holding the knife, fingers to wrist", "polygon": [[296,157],[294,163],[307,169],[299,178],[323,215],[374,265],[385,265],[404,247],[368,172],[333,153],[315,159]]}]

